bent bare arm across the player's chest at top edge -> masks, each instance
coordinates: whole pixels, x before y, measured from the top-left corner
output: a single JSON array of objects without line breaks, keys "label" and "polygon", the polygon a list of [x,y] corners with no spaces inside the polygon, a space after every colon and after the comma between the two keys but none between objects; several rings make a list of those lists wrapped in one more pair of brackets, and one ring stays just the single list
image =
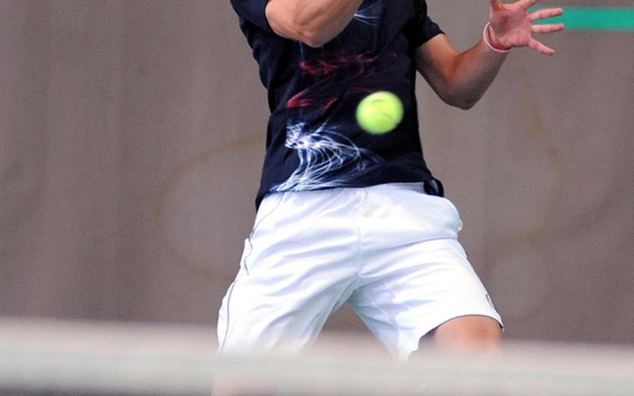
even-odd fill
[{"label": "bent bare arm across the player's chest at top edge", "polygon": [[269,0],[266,16],[280,36],[319,47],[339,35],[363,0]]}]

